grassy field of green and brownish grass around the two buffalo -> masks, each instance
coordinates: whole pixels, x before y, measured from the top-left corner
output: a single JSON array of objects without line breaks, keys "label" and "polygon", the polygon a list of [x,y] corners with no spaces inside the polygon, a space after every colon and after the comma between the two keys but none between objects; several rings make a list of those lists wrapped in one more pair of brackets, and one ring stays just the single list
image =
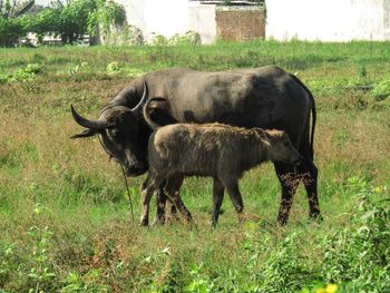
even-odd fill
[{"label": "grassy field of green and brownish grass around the two buffalo", "polygon": [[[390,43],[0,49],[0,292],[390,292]],[[228,198],[211,228],[212,185],[186,179],[196,227],[133,223],[119,166],[80,130],[134,77],[186,66],[275,64],[318,106],[323,223],[299,189],[285,227],[272,165],[241,180],[247,222]],[[130,194],[138,218],[138,186]]]}]

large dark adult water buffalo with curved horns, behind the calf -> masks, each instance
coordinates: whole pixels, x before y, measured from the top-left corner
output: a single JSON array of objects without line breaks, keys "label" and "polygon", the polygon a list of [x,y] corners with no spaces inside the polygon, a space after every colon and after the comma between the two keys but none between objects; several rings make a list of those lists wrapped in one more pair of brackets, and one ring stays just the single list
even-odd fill
[{"label": "large dark adult water buffalo with curved horns, behind the calf", "polygon": [[[145,114],[150,119],[145,119]],[[97,120],[81,117],[74,108],[72,115],[87,128],[74,138],[98,134],[106,152],[124,166],[128,176],[147,172],[147,141],[153,125],[216,121],[284,130],[303,160],[296,168],[274,163],[282,186],[277,221],[286,223],[300,182],[308,193],[310,216],[321,218],[318,168],[313,163],[314,99],[300,79],[276,66],[216,72],[187,68],[152,71],[124,88],[103,108]],[[165,201],[160,193],[158,221],[164,221]]]}]

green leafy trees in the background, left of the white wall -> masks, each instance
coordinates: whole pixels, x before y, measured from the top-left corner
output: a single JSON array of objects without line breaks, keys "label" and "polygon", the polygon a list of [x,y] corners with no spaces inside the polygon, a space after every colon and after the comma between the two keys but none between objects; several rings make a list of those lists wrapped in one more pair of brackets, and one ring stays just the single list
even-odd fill
[{"label": "green leafy trees in the background, left of the white wall", "polygon": [[126,22],[123,6],[110,0],[57,1],[35,16],[26,16],[32,6],[33,0],[25,4],[0,0],[0,46],[11,46],[28,32],[36,33],[39,42],[50,35],[60,37],[62,43],[74,43],[85,35],[95,37],[99,30],[107,32],[111,26]]}]

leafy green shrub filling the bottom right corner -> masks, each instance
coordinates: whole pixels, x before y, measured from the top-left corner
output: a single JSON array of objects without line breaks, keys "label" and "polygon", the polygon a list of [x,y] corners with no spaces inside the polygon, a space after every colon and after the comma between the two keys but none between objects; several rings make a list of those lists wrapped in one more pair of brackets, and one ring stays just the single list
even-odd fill
[{"label": "leafy green shrub filling the bottom right corner", "polygon": [[374,191],[367,187],[361,195],[355,228],[335,233],[326,243],[322,275],[343,283],[345,292],[390,291],[390,208],[369,199]]}]

